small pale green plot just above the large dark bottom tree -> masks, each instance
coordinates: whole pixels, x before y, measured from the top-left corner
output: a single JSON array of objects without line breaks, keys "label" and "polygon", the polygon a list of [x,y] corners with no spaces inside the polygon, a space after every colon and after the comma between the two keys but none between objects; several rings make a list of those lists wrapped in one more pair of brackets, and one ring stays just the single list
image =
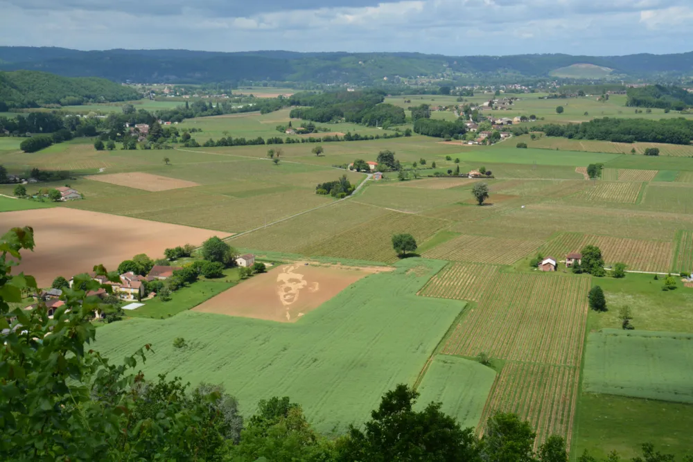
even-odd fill
[{"label": "small pale green plot just above the large dark bottom tree", "polygon": [[421,396],[416,407],[443,402],[441,410],[457,418],[460,427],[478,427],[495,375],[492,368],[478,362],[437,355],[417,390]]}]

